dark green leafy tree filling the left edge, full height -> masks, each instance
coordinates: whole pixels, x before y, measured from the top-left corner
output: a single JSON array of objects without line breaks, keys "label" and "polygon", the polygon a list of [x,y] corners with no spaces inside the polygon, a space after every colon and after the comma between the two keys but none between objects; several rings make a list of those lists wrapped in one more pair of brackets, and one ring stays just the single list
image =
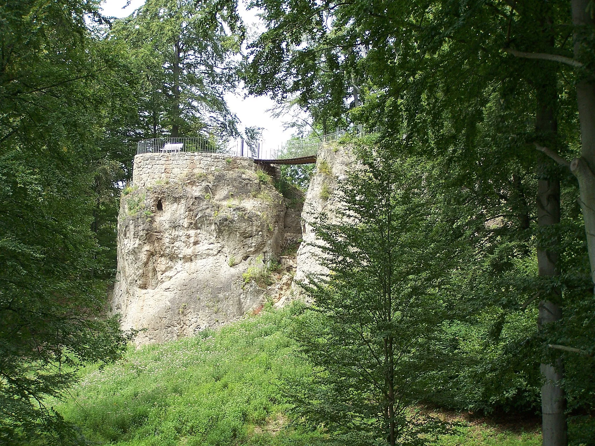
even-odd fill
[{"label": "dark green leafy tree filling the left edge, full height", "polygon": [[[111,59],[95,2],[0,7],[0,441],[82,442],[47,407],[127,338],[105,318],[109,259],[92,226]],[[114,265],[111,265],[113,269]]]}]

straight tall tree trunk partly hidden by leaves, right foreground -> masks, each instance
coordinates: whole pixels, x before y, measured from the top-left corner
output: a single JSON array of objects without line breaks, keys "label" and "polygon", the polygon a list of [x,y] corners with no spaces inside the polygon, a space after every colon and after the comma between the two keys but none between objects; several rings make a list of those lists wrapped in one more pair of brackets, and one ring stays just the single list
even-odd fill
[{"label": "straight tall tree trunk partly hidden by leaves, right foreground", "polygon": [[[555,108],[556,77],[551,76],[546,82],[537,86],[537,112],[535,128],[538,137],[544,142],[553,140],[558,131]],[[540,178],[537,180],[537,224],[547,227],[560,222],[560,179],[552,173],[553,163],[544,159],[540,163]],[[537,249],[538,271],[541,277],[553,277],[560,274],[558,268],[558,253]],[[560,293],[554,291],[550,296],[544,296],[539,303],[538,326],[542,328],[546,323],[558,321],[562,317],[560,309]],[[541,375],[544,384],[541,387],[541,413],[544,446],[566,446],[566,397],[560,380],[562,379],[562,360],[555,365],[541,364]]]}]

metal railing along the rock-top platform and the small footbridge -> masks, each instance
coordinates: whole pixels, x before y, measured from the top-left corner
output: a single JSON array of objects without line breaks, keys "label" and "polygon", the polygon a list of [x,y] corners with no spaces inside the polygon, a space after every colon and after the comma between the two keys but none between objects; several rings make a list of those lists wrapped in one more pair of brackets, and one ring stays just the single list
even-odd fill
[{"label": "metal railing along the rock-top platform and the small footbridge", "polygon": [[274,159],[307,158],[317,156],[324,143],[339,140],[346,134],[365,136],[366,134],[377,133],[378,131],[378,128],[374,128],[372,131],[366,131],[361,125],[350,131],[337,128],[333,133],[292,139],[277,147],[266,146],[262,141],[242,138],[231,141],[221,141],[214,137],[153,138],[139,141],[137,143],[136,154],[208,152],[221,153],[222,155],[245,156],[246,158],[267,161]]}]

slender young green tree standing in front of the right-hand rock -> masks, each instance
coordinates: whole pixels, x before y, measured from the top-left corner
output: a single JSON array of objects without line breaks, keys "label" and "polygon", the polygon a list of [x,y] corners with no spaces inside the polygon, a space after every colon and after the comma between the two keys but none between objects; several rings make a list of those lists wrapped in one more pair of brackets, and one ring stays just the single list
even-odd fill
[{"label": "slender young green tree standing in front of the right-hand rock", "polygon": [[447,239],[419,160],[372,146],[358,153],[363,166],[337,192],[342,208],[313,223],[328,272],[302,284],[317,317],[303,319],[297,338],[315,373],[295,410],[342,441],[411,444],[420,441],[411,406],[422,398],[424,345],[444,311],[436,288]]}]

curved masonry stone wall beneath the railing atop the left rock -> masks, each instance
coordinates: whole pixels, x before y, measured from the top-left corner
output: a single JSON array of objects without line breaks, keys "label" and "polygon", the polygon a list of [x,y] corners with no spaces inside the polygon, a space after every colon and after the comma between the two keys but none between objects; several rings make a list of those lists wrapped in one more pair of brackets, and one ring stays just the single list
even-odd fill
[{"label": "curved masonry stone wall beneath the railing atop the left rock", "polygon": [[134,157],[132,184],[146,187],[164,181],[184,181],[196,175],[233,169],[255,170],[251,158],[220,153],[174,152],[143,153]]}]

